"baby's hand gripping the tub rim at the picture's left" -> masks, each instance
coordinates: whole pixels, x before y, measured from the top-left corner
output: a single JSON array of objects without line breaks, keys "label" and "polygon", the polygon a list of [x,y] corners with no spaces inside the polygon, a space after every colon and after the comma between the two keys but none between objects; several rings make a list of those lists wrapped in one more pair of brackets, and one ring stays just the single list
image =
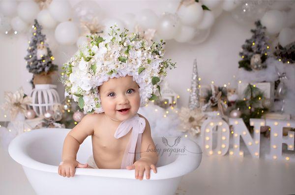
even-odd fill
[{"label": "baby's hand gripping the tub rim at the picture's left", "polygon": [[87,168],[88,164],[81,164],[76,160],[64,160],[59,164],[59,175],[64,177],[74,177],[76,167]]}]

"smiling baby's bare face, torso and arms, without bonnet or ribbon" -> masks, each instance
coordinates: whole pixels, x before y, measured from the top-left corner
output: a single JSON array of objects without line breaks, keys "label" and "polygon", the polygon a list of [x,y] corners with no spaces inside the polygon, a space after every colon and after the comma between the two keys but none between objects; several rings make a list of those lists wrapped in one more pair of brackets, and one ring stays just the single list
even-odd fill
[{"label": "smiling baby's bare face, torso and arms, without bonnet or ribbon", "polygon": [[[127,119],[135,117],[140,107],[139,86],[132,80],[132,76],[113,78],[99,86],[103,113],[87,114],[66,136],[62,150],[62,162],[59,174],[74,176],[75,167],[94,168],[76,161],[79,145],[91,135],[93,158],[98,168],[121,168],[124,148],[131,139],[131,131],[125,136],[116,139],[114,134],[118,125]],[[148,120],[145,120],[145,129],[142,134],[141,158],[125,168],[135,169],[135,178],[150,178],[150,169],[156,173],[158,161],[157,152],[147,152],[148,148],[155,148],[150,134]],[[151,150],[149,150],[151,151]]]}]

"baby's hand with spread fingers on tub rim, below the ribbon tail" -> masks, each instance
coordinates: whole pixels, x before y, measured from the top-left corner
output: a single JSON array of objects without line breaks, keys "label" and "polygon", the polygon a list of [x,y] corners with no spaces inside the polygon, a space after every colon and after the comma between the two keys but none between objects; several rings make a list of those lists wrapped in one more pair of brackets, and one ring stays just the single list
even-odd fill
[{"label": "baby's hand with spread fingers on tub rim, below the ribbon tail", "polygon": [[144,172],[146,170],[146,178],[150,178],[150,169],[153,170],[154,173],[157,173],[156,166],[151,164],[148,159],[141,158],[136,161],[133,165],[126,167],[128,170],[135,169],[135,178],[139,180],[143,180]]}]

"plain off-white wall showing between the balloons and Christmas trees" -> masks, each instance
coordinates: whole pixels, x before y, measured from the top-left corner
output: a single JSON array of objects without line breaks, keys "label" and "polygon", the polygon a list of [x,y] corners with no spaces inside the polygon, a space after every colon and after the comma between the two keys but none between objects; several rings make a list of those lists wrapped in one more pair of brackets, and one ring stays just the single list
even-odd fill
[{"label": "plain off-white wall showing between the balloons and Christmas trees", "polygon": [[[74,5],[78,1],[71,1]],[[158,15],[162,12],[161,5],[165,1],[97,1],[100,7],[104,8],[107,15],[119,17],[123,13],[136,13],[144,8],[153,9]],[[172,58],[177,62],[177,68],[170,70],[167,76],[171,88],[180,95],[178,106],[187,106],[190,87],[191,71],[193,60],[198,61],[199,77],[201,85],[210,84],[214,81],[216,85],[231,83],[236,87],[233,75],[237,73],[238,53],[245,39],[250,38],[253,26],[244,26],[234,20],[230,13],[223,12],[217,18],[211,28],[207,40],[199,45],[189,45],[187,43],[177,43],[176,41],[166,41],[166,58]],[[32,77],[26,69],[24,56],[27,54],[28,41],[26,34],[4,35],[0,34],[0,104],[4,102],[4,91],[16,91],[23,86],[26,94],[29,94],[31,85],[29,81]],[[49,45],[50,46],[50,45]],[[55,64],[61,66],[67,59],[77,51],[73,46],[50,46]],[[61,83],[57,81],[59,75],[53,77],[54,84],[58,85],[58,92],[61,99],[64,90]],[[7,120],[0,111],[0,120]]]}]

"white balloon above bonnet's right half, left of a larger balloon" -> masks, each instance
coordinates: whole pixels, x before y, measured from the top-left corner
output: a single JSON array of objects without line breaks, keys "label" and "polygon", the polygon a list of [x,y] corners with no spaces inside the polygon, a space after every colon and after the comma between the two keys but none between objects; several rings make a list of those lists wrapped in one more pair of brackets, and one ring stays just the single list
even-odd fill
[{"label": "white balloon above bonnet's right half, left of a larger balloon", "polygon": [[137,14],[136,20],[144,29],[155,29],[157,27],[158,16],[152,10],[144,9]]}]

